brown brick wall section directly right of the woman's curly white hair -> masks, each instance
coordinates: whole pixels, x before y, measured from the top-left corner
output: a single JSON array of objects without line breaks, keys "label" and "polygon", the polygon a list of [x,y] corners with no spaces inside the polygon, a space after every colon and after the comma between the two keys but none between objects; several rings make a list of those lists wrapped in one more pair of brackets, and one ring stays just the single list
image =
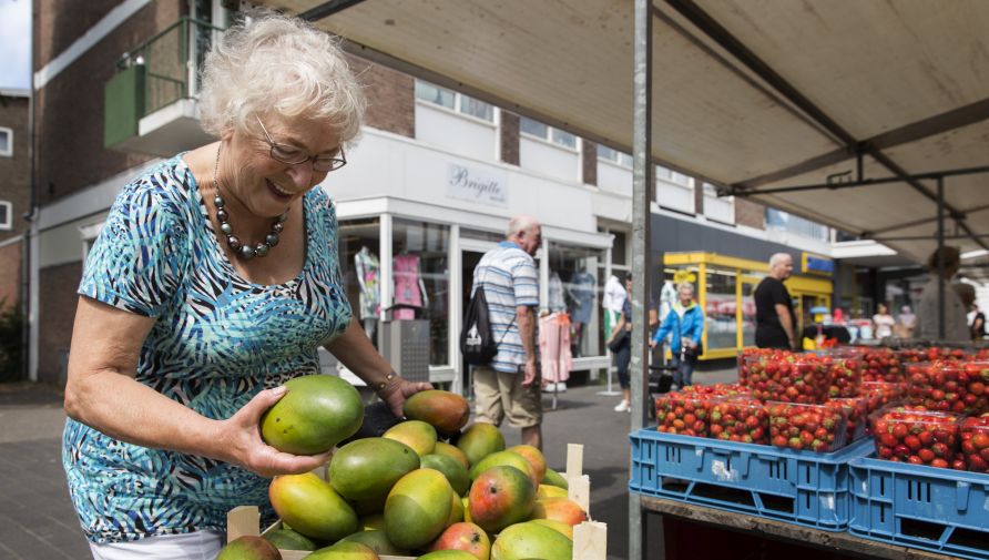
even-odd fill
[{"label": "brown brick wall section directly right of the woman's curly white hair", "polygon": [[416,138],[416,81],[401,72],[348,54],[367,95],[365,124]]}]

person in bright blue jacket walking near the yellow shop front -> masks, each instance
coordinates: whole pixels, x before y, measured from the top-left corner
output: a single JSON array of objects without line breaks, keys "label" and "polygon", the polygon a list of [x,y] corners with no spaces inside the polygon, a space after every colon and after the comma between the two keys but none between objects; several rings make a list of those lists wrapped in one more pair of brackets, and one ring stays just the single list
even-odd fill
[{"label": "person in bright blue jacket walking near the yellow shop front", "polygon": [[679,298],[666,314],[650,346],[655,347],[672,335],[670,350],[673,354],[672,365],[676,368],[673,374],[673,385],[680,388],[691,384],[694,366],[697,365],[701,335],[704,332],[704,313],[694,302],[693,284],[686,282],[680,284],[676,293]]}]

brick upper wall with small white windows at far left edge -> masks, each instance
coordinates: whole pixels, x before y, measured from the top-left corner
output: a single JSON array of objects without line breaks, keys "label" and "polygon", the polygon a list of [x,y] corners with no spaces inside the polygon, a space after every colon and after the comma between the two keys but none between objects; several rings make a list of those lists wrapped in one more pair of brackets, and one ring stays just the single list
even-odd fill
[{"label": "brick upper wall with small white windows at far left edge", "polygon": [[[21,217],[30,208],[31,160],[28,156],[28,98],[0,96],[0,126],[13,132],[13,153],[0,155],[0,201],[10,202],[12,228],[0,230],[0,242],[22,234],[28,222]],[[0,258],[0,267],[7,266]]]}]

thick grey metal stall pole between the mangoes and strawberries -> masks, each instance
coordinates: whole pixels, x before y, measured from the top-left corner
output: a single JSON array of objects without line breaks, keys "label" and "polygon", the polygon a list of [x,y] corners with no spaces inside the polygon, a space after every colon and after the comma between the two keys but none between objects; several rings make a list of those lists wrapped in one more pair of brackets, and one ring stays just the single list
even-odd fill
[{"label": "thick grey metal stall pole between the mangoes and strawberries", "polygon": [[[650,190],[655,189],[652,163],[652,1],[635,0],[634,59],[632,72],[632,430],[645,422],[645,384],[649,362],[649,274],[646,258],[650,243]],[[629,495],[629,558],[644,556],[642,505],[638,495]],[[662,553],[660,557],[662,558]]]}]

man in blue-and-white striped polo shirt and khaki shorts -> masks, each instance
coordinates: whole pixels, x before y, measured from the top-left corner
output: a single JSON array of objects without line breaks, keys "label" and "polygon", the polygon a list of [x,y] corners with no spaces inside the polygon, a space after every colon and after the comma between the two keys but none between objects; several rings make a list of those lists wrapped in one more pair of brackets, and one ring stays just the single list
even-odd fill
[{"label": "man in blue-and-white striped polo shirt and khaki shorts", "polygon": [[[542,449],[542,378],[536,360],[536,307],[539,274],[532,255],[542,227],[531,216],[509,222],[506,241],[485,253],[473,269],[473,288],[483,286],[491,336],[498,354],[473,368],[477,419],[521,428],[522,444]],[[473,291],[471,291],[473,294]]]}]

